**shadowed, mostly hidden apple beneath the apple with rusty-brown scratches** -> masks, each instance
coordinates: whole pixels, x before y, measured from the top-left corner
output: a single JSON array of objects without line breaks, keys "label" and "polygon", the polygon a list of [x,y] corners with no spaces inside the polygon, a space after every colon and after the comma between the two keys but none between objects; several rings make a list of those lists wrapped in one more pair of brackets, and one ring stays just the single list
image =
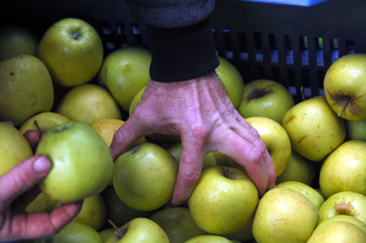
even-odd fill
[{"label": "shadowed, mostly hidden apple beneath the apple with rusty-brown scratches", "polygon": [[277,176],[276,183],[296,181],[310,185],[314,180],[316,171],[311,162],[292,149],[290,161],[281,175]]}]

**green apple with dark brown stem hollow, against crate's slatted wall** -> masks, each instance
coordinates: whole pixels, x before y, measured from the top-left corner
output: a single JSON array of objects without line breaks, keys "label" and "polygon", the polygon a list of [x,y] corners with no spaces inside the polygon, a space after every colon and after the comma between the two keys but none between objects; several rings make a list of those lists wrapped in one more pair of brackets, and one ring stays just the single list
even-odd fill
[{"label": "green apple with dark brown stem hollow, against crate's slatted wall", "polygon": [[243,118],[262,116],[281,124],[283,115],[294,105],[285,86],[270,79],[257,79],[244,85],[238,112]]}]

